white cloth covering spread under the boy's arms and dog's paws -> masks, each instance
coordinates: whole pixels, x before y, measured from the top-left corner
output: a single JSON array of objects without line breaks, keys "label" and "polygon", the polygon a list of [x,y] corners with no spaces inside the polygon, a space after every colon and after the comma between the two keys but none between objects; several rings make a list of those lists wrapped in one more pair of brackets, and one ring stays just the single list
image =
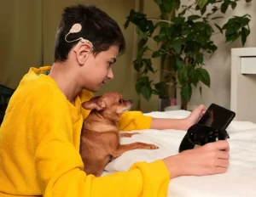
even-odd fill
[{"label": "white cloth covering spread under the boy's arms and dog's paws", "polygon": [[[154,117],[183,118],[189,111],[153,112]],[[171,180],[168,196],[172,197],[243,197],[256,196],[256,125],[248,121],[232,121],[230,134],[230,167],[228,172],[206,177],[177,177]],[[152,161],[176,155],[185,132],[177,130],[143,130],[132,138],[122,138],[121,144],[147,142],[160,149],[132,150],[106,166],[112,172],[126,171],[137,161]]]}]

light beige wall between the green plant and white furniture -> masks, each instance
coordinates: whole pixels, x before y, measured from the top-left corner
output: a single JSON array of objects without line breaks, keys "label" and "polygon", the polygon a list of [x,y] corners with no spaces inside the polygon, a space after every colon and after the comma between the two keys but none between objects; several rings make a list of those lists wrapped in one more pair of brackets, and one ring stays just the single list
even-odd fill
[{"label": "light beige wall between the green plant and white furniture", "polygon": [[[188,3],[188,0],[183,0],[183,4]],[[252,3],[244,3],[241,1],[237,3],[237,8],[235,12],[229,9],[226,17],[231,17],[232,15],[243,15],[251,14],[252,20],[250,23],[251,34],[247,38],[247,43],[245,47],[255,47],[256,46],[256,1]],[[219,25],[224,25],[227,18],[224,20],[218,20]],[[203,86],[202,88],[202,98],[200,96],[199,90],[193,90],[193,96],[189,104],[206,104],[207,106],[216,103],[223,105],[224,107],[230,109],[230,66],[231,48],[241,48],[241,41],[236,41],[233,43],[225,43],[224,37],[221,35],[216,35],[213,37],[213,41],[218,46],[218,51],[214,53],[211,59],[208,59],[205,63],[205,68],[209,71],[211,76],[212,85],[211,88]],[[244,88],[247,91],[247,88]],[[256,90],[255,90],[256,91]]]}]

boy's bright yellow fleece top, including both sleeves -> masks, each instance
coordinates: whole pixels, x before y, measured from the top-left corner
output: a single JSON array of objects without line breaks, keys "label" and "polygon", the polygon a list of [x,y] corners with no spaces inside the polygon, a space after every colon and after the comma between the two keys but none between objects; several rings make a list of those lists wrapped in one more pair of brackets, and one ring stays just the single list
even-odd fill
[{"label": "boy's bright yellow fleece top, including both sleeves", "polygon": [[[170,181],[162,160],[137,162],[128,172],[94,177],[83,172],[79,155],[83,119],[90,111],[81,103],[93,94],[84,91],[75,106],[57,84],[32,68],[9,101],[0,127],[0,197],[125,197],[166,196]],[[141,112],[126,112],[122,130],[150,127]]]}]

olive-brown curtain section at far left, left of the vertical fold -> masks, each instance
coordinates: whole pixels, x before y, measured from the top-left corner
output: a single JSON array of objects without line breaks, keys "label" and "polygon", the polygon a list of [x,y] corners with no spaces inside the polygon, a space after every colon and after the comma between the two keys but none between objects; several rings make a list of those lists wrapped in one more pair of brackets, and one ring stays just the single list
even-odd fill
[{"label": "olive-brown curtain section at far left, left of the vertical fold", "polygon": [[41,0],[1,2],[0,83],[15,88],[30,66],[41,65],[42,10]]}]

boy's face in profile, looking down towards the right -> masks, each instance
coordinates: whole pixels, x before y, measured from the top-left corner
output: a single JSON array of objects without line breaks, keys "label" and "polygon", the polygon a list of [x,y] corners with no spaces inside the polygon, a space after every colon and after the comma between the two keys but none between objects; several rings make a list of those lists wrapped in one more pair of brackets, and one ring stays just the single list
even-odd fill
[{"label": "boy's face in profile, looking down towards the right", "polygon": [[87,53],[88,56],[85,57],[83,65],[79,66],[79,85],[91,92],[96,92],[108,79],[113,79],[112,65],[118,53],[117,46],[112,46],[107,51],[96,55]]}]

